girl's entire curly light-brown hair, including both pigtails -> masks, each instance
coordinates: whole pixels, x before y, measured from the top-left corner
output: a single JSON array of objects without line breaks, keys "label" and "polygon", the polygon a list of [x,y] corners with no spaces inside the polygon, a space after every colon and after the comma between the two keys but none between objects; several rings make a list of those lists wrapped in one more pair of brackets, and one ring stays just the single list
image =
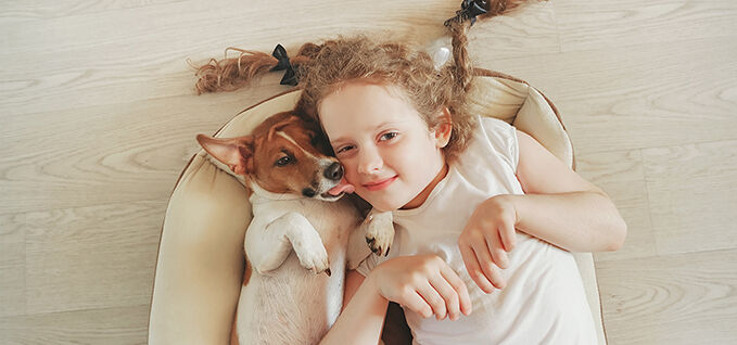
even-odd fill
[{"label": "girl's entire curly light-brown hair, including both pigtails", "polygon": [[[491,17],[518,8],[524,0],[491,0],[485,2]],[[450,112],[453,131],[445,155],[453,159],[468,145],[475,117],[466,108],[466,93],[474,71],[468,56],[468,21],[448,21],[453,36],[453,60],[439,69],[430,55],[409,42],[381,41],[365,35],[340,37],[320,44],[305,43],[291,58],[300,85],[304,89],[296,113],[319,122],[321,100],[342,85],[351,81],[396,86],[421,115],[429,128],[441,123],[439,112]],[[200,93],[231,91],[249,84],[279,63],[266,53],[240,51],[238,58],[211,60],[198,71],[196,88]],[[227,52],[227,50],[226,50]]]}]

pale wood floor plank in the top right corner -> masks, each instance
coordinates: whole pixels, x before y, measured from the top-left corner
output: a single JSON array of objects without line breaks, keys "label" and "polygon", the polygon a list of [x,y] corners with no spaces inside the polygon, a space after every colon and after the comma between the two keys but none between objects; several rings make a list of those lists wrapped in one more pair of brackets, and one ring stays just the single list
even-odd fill
[{"label": "pale wood floor plank in the top right corner", "polygon": [[564,52],[737,36],[734,1],[552,0],[551,3]]}]

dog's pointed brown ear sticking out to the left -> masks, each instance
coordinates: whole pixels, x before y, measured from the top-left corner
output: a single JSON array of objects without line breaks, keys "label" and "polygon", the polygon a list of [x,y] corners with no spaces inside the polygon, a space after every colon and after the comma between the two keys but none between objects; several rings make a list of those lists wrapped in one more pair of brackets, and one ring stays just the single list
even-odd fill
[{"label": "dog's pointed brown ear sticking out to the left", "polygon": [[253,137],[212,138],[198,135],[200,145],[238,175],[253,171]]}]

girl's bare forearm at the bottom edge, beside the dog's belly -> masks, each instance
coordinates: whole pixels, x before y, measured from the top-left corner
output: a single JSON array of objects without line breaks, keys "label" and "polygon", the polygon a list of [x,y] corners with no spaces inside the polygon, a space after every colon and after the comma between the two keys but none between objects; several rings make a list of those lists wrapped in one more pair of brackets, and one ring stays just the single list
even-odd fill
[{"label": "girl's bare forearm at the bottom edge, beside the dog's belly", "polygon": [[378,344],[387,306],[371,276],[367,277],[320,344]]}]

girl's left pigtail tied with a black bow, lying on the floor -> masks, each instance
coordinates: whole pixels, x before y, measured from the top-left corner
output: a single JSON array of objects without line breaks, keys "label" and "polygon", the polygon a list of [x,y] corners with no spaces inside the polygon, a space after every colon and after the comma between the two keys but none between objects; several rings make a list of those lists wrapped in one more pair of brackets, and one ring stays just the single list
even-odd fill
[{"label": "girl's left pigtail tied with a black bow, lying on the floor", "polygon": [[[275,52],[267,54],[258,51],[243,50],[229,47],[225,50],[225,58],[223,60],[211,59],[209,62],[203,66],[196,67],[195,76],[198,81],[195,88],[198,94],[205,92],[218,91],[234,91],[238,90],[258,76],[262,76],[270,71],[288,69],[289,75],[282,79],[282,84],[297,85],[297,72],[300,66],[304,66],[317,55],[320,51],[320,46],[315,43],[305,43],[297,51],[294,58],[287,58],[285,51],[282,50],[282,55],[277,54],[281,46],[275,49]],[[239,52],[238,58],[228,58],[229,51]],[[275,55],[279,56],[277,59]]]}]

